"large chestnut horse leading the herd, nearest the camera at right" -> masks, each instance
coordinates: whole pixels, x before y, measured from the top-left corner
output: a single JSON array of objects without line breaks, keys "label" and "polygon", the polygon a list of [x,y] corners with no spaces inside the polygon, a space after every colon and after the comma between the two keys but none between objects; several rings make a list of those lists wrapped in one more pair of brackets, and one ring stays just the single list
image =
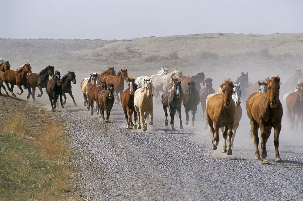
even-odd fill
[{"label": "large chestnut horse leading the herd, nearest the camera at right", "polygon": [[[266,163],[266,142],[274,128],[274,145],[276,162],[282,162],[279,154],[279,135],[283,116],[282,104],[279,100],[280,77],[267,78],[266,93],[251,94],[246,101],[247,115],[254,135],[255,157]],[[261,154],[258,149],[258,128],[261,131]],[[261,158],[260,158],[261,155]]]}]

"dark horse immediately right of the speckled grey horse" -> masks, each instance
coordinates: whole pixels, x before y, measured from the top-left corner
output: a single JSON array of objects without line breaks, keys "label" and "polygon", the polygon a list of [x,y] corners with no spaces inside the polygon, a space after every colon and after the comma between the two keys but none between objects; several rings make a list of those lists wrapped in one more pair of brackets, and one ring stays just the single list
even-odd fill
[{"label": "dark horse immediately right of the speckled grey horse", "polygon": [[195,128],[195,115],[197,112],[197,106],[200,102],[199,92],[195,88],[195,82],[190,81],[188,82],[188,89],[184,92],[182,103],[185,108],[185,114],[186,114],[186,123],[185,125],[188,125],[188,112],[192,111],[192,119],[191,124],[192,127]]}]

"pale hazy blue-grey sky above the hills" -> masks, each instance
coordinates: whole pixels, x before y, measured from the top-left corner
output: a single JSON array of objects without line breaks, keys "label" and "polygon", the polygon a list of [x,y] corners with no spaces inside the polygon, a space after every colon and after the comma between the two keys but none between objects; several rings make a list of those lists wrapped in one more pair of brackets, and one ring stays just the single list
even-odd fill
[{"label": "pale hazy blue-grey sky above the hills", "polygon": [[303,32],[302,0],[0,0],[0,38]]}]

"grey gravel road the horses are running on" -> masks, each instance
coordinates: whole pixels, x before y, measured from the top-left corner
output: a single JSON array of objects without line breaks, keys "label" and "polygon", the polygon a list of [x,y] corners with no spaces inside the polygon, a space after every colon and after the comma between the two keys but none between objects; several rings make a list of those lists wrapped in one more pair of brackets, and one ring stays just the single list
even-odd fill
[{"label": "grey gravel road the horses are running on", "polygon": [[[280,156],[275,163],[273,132],[267,143],[271,164],[255,160],[249,120],[243,116],[233,155],[211,150],[211,135],[204,131],[198,105],[195,125],[176,131],[165,126],[160,105],[154,105],[154,125],[147,132],[125,129],[121,107],[114,105],[111,123],[90,116],[83,106],[58,109],[67,124],[70,147],[79,172],[74,175],[80,199],[88,200],[302,200],[303,137],[282,128]],[[183,107],[183,106],[182,106]],[[285,116],[286,117],[286,116]],[[285,118],[284,117],[284,118]],[[191,119],[191,116],[190,116]],[[283,119],[286,122],[286,118]],[[261,143],[261,141],[260,141]],[[260,145],[259,145],[260,146]]]}]

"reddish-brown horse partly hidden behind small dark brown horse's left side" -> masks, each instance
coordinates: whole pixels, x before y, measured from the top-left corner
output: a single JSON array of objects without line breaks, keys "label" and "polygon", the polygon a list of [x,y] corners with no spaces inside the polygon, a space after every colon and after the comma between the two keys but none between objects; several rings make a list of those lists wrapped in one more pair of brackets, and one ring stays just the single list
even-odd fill
[{"label": "reddish-brown horse partly hidden behind small dark brown horse's left side", "polygon": [[98,107],[98,96],[100,91],[106,90],[107,89],[107,85],[106,82],[102,82],[99,80],[99,84],[93,84],[90,88],[89,88],[89,93],[88,93],[88,105],[87,105],[87,109],[89,110],[89,108],[91,107],[91,115],[93,115],[93,108],[94,108],[94,101],[96,101],[96,109],[97,109],[97,114],[99,114],[100,110]]}]

